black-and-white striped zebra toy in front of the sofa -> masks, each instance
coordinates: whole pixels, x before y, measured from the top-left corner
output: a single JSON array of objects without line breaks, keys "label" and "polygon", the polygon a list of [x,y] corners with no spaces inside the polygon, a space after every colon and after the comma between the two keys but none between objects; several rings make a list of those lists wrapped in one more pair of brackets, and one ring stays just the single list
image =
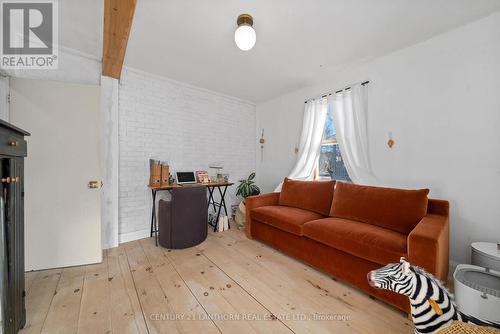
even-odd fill
[{"label": "black-and-white striped zebra toy in front of the sofa", "polygon": [[370,271],[368,282],[375,288],[394,291],[410,299],[415,333],[435,333],[453,320],[500,328],[500,323],[483,321],[458,311],[444,285],[422,268],[412,266],[404,257],[399,263]]}]

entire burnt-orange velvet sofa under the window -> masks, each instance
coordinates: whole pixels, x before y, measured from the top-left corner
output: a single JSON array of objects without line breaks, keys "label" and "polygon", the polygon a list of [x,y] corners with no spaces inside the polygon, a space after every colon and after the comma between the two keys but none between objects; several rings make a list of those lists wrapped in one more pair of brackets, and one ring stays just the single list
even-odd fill
[{"label": "entire burnt-orange velvet sofa under the window", "polygon": [[409,312],[408,299],[371,287],[367,273],[404,256],[448,276],[449,204],[428,189],[285,179],[245,199],[246,235]]}]

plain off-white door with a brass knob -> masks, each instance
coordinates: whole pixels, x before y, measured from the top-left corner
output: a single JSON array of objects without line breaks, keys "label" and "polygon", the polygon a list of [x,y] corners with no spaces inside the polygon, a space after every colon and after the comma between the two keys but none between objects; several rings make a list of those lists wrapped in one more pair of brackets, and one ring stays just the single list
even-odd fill
[{"label": "plain off-white door with a brass knob", "polygon": [[102,261],[99,86],[10,81],[12,124],[31,133],[25,163],[26,270]]}]

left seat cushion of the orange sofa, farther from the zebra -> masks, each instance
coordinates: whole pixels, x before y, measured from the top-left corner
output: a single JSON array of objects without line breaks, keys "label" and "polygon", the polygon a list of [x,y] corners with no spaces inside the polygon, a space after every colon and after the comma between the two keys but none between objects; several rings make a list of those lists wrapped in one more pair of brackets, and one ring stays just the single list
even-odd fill
[{"label": "left seat cushion of the orange sofa, farther from the zebra", "polygon": [[252,219],[298,236],[302,236],[302,225],[305,222],[324,218],[312,211],[278,205],[261,206],[252,209],[250,214]]}]

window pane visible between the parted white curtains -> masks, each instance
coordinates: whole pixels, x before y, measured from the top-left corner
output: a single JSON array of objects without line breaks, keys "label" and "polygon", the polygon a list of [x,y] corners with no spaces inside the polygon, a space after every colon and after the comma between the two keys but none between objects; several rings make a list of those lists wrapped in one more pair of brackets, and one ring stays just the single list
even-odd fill
[{"label": "window pane visible between the parted white curtains", "polygon": [[318,162],[319,177],[351,182],[340,154],[336,134],[333,108],[328,107]]}]

